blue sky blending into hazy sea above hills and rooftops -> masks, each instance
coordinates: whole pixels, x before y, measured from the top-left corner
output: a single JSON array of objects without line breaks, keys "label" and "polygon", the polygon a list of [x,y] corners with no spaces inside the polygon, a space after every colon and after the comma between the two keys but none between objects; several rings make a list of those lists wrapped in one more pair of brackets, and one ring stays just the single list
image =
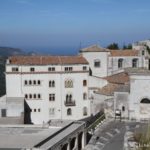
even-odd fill
[{"label": "blue sky blending into hazy sea above hills and rooftops", "polygon": [[150,0],[0,0],[0,46],[73,54],[150,38]]}]

